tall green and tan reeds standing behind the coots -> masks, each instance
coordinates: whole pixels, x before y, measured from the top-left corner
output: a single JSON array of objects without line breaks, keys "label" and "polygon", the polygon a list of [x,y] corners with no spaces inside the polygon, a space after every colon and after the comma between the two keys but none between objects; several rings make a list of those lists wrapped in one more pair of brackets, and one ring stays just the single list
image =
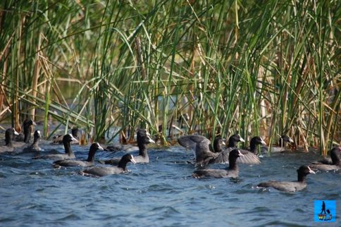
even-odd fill
[{"label": "tall green and tan reeds standing behind the coots", "polygon": [[[340,1],[0,3],[0,121],[340,142]],[[109,128],[117,126],[111,133]],[[58,128],[58,127],[57,127]],[[67,128],[67,127],[66,127]],[[167,127],[159,137],[167,139]],[[128,138],[127,138],[128,139]]]}]

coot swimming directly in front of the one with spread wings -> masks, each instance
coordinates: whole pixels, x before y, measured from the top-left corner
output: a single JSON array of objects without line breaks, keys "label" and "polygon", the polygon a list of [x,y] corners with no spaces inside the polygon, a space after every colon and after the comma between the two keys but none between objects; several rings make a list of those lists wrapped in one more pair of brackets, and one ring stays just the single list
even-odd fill
[{"label": "coot swimming directly in front of the one with spread wings", "polygon": [[192,173],[192,177],[237,178],[239,175],[237,158],[239,157],[244,157],[244,154],[242,154],[239,149],[233,149],[228,156],[229,166],[227,169],[199,169]]}]

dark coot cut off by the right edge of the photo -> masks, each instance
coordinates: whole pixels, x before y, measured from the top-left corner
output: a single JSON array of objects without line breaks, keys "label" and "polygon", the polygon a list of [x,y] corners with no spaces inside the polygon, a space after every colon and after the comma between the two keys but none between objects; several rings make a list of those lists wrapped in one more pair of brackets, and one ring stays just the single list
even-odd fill
[{"label": "dark coot cut off by the right edge of the photo", "polygon": [[330,160],[322,159],[320,161],[314,161],[312,164],[309,164],[310,168],[317,169],[319,171],[338,171],[341,168],[341,147],[333,147],[333,149],[330,149],[329,152]]}]

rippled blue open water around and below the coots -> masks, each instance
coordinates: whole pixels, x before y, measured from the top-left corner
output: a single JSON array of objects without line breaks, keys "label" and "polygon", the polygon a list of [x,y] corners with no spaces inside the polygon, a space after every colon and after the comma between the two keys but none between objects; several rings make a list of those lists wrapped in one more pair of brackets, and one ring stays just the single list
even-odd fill
[{"label": "rippled blue open water around and below the coots", "polygon": [[[73,145],[80,159],[88,149]],[[97,152],[96,158],[123,154]],[[319,158],[312,152],[240,164],[238,180],[192,178],[194,166],[184,162],[192,153],[182,147],[149,149],[149,157],[149,164],[128,164],[129,173],[89,178],[77,167],[54,169],[50,160],[0,154],[0,226],[325,226],[314,223],[314,200],[337,200],[337,222],[329,226],[340,226],[340,173],[310,174],[308,188],[296,193],[254,188],[265,180],[296,180],[300,165]]]}]

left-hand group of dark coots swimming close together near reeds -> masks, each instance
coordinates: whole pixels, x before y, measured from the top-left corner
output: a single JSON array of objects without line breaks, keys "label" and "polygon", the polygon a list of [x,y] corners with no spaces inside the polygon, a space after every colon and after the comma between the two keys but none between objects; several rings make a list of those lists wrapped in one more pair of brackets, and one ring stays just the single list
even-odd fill
[{"label": "left-hand group of dark coots swimming close together near reeds", "polygon": [[[74,128],[72,130],[72,134],[70,133],[59,136],[50,143],[51,145],[58,144],[61,141],[64,147],[64,152],[61,153],[57,149],[42,149],[39,147],[39,141],[42,138],[39,130],[35,130],[35,133],[33,133],[33,142],[30,144],[31,125],[36,124],[29,119],[24,121],[24,135],[17,133],[14,128],[8,128],[5,132],[5,145],[0,146],[0,153],[25,156],[28,155],[32,156],[32,159],[35,160],[50,159],[54,161],[52,164],[54,168],[67,168],[74,166],[86,167],[79,172],[83,176],[107,176],[111,174],[125,173],[128,171],[128,162],[132,162],[133,164],[149,163],[147,145],[149,143],[155,143],[154,140],[151,139],[147,130],[137,130],[137,149],[139,149],[139,154],[137,156],[133,157],[132,154],[125,154],[120,158],[99,161],[99,164],[97,165],[95,164],[95,154],[97,151],[104,150],[104,148],[101,147],[98,142],[92,143],[92,145],[89,147],[87,159],[80,160],[77,159],[72,148],[73,145],[78,142],[77,138],[75,137],[76,130]],[[16,138],[18,141],[13,141],[14,138]],[[109,166],[101,164],[109,164]]]}]

